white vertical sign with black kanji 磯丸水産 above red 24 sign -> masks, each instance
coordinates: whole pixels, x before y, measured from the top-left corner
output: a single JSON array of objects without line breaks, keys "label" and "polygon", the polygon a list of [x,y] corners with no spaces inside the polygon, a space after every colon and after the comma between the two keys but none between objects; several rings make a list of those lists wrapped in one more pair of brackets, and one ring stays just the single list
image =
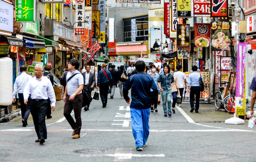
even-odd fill
[{"label": "white vertical sign with black kanji \u78ef\u4e38\u6c34\u7523 above red 24 sign", "polygon": [[76,0],[75,22],[76,28],[84,28],[84,0]]}]

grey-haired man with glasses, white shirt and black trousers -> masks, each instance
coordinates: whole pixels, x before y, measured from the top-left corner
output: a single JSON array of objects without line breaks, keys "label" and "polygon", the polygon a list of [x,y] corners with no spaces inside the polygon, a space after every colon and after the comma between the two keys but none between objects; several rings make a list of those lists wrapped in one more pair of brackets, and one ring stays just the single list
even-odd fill
[{"label": "grey-haired man with glasses, white shirt and black trousers", "polygon": [[37,64],[34,69],[35,76],[31,78],[23,92],[24,103],[28,103],[29,94],[31,94],[30,111],[36,129],[38,139],[36,142],[43,144],[47,139],[47,129],[45,117],[47,112],[47,99],[51,101],[51,109],[55,110],[56,98],[51,81],[43,76],[44,67]]}]

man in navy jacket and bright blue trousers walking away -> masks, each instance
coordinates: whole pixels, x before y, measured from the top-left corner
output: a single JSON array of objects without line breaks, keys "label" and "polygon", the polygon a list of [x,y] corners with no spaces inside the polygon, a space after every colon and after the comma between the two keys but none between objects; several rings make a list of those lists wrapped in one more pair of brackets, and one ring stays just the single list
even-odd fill
[{"label": "man in navy jacket and bright blue trousers walking away", "polygon": [[[123,97],[131,109],[131,124],[136,150],[143,151],[149,135],[149,114],[150,107],[154,106],[157,96],[157,87],[151,76],[144,73],[146,69],[144,61],[135,63],[137,74],[128,78],[123,86]],[[131,98],[128,97],[128,90],[131,89]],[[153,91],[150,91],[152,89]]]}]

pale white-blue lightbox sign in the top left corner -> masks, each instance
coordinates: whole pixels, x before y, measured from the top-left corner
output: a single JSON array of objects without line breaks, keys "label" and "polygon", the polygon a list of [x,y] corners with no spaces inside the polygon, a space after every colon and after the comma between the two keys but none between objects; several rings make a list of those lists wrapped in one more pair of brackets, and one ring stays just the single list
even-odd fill
[{"label": "pale white-blue lightbox sign in the top left corner", "polygon": [[0,0],[0,30],[13,33],[13,5]]}]

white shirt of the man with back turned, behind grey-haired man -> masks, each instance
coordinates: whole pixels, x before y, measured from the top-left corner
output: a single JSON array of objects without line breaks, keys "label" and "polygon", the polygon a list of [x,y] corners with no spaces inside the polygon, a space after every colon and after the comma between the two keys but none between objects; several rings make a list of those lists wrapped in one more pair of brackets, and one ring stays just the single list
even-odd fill
[{"label": "white shirt of the man with back turned, behind grey-haired man", "polygon": [[23,94],[24,88],[28,83],[28,80],[31,78],[32,76],[23,72],[15,79],[15,83],[13,85],[13,98],[15,98],[17,92],[18,94]]}]

